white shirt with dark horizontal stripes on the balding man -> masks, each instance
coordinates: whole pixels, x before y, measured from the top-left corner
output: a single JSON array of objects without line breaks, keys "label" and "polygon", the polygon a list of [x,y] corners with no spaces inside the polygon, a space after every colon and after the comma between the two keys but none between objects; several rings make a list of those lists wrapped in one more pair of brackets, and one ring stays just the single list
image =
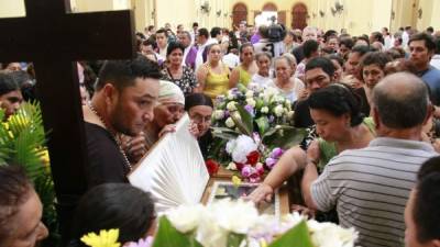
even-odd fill
[{"label": "white shirt with dark horizontal stripes on the balding man", "polygon": [[359,245],[405,246],[406,201],[421,164],[436,155],[427,143],[376,138],[331,159],[311,197],[320,211],[337,206],[341,226],[359,231]]}]

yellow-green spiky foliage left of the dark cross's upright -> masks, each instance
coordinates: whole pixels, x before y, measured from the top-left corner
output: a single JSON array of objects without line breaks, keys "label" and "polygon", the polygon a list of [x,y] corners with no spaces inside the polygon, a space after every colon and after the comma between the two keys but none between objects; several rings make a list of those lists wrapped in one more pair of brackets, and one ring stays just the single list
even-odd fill
[{"label": "yellow-green spiky foliage left of the dark cross's upright", "polygon": [[[4,117],[0,109],[0,119]],[[47,246],[59,239],[55,210],[55,190],[51,176],[46,135],[37,103],[24,103],[0,124],[0,166],[22,166],[43,203],[42,221],[50,229]]]}]

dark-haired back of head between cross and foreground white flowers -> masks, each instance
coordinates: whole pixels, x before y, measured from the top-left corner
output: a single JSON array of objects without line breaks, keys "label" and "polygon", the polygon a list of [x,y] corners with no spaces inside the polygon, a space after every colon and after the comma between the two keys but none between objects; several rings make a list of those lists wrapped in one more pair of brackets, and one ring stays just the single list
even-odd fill
[{"label": "dark-haired back of head between cross and foreground white flowers", "polygon": [[128,183],[105,183],[89,190],[79,201],[72,238],[78,244],[85,234],[119,228],[120,243],[138,242],[154,218],[154,202],[148,192]]}]

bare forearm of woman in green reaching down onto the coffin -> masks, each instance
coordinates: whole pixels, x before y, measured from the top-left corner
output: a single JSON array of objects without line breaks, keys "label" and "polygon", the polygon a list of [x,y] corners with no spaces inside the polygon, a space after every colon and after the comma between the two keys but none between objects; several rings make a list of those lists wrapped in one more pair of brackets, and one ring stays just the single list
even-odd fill
[{"label": "bare forearm of woman in green reaching down onto the coffin", "polygon": [[292,147],[283,154],[264,181],[249,195],[248,199],[255,203],[263,200],[270,201],[274,190],[279,188],[293,173],[302,169],[305,165],[306,153],[299,146]]}]

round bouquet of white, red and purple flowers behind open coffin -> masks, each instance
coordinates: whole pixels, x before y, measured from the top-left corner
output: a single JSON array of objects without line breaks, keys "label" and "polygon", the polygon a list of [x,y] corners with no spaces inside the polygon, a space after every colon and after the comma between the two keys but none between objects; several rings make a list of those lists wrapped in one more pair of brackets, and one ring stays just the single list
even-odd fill
[{"label": "round bouquet of white, red and purple flowers behind open coffin", "polygon": [[292,126],[293,116],[292,102],[276,89],[239,85],[217,99],[209,158],[258,182],[306,135]]}]

